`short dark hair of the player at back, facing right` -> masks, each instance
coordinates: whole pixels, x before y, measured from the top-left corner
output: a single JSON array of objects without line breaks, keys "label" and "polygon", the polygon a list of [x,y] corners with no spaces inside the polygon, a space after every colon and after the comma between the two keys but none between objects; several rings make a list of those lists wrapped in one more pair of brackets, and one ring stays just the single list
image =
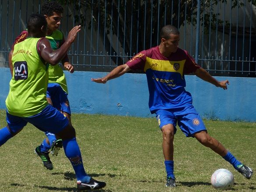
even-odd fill
[{"label": "short dark hair of the player at back, facing right", "polygon": [[41,14],[50,17],[53,15],[53,12],[63,13],[63,7],[53,0],[47,1],[45,4],[43,4]]}]

